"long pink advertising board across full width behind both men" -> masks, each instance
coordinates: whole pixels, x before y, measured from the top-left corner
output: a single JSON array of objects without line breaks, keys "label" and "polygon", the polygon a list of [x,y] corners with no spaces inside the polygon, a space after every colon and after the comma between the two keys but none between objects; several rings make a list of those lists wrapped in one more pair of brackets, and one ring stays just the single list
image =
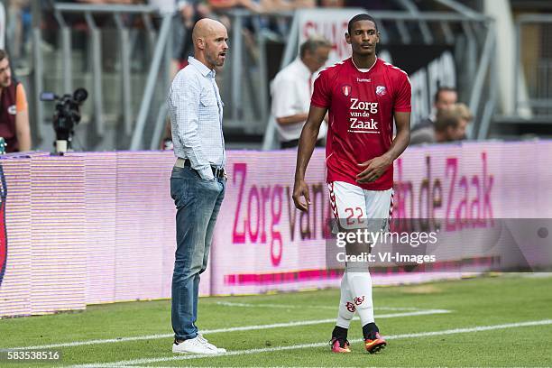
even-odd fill
[{"label": "long pink advertising board across full width behind both men", "polygon": [[[552,218],[550,157],[547,141],[409,148],[395,163],[393,216],[423,219],[439,232],[439,246],[428,252],[440,262],[433,271],[446,272],[375,267],[374,283],[459,277],[465,270],[439,269],[458,260],[489,270],[512,242],[524,260],[549,267],[552,247],[542,231]],[[324,151],[308,166],[308,214],[291,200],[295,161],[294,150],[228,152],[201,295],[337,286],[340,271],[326,261]],[[1,159],[0,317],[170,298],[173,163],[172,152]],[[516,226],[501,218],[534,220]],[[502,261],[519,266],[514,255]]]}]

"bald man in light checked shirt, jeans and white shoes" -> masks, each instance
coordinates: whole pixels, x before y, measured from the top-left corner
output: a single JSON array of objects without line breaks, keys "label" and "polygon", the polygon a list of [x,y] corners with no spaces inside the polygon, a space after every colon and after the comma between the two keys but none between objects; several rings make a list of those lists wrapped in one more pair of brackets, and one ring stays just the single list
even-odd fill
[{"label": "bald man in light checked shirt, jeans and white shoes", "polygon": [[173,353],[222,354],[198,333],[199,275],[207,269],[216,216],[225,197],[223,102],[216,69],[225,64],[228,34],[222,23],[202,19],[192,38],[194,57],[170,86],[167,104],[176,163],[170,196],[177,207],[177,249],[172,275]]}]

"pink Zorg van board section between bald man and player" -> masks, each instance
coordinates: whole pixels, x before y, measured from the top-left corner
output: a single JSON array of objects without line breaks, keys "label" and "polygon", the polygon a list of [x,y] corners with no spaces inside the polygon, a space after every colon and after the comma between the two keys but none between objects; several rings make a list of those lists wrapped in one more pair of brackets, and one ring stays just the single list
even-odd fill
[{"label": "pink Zorg van board section between bald man and player", "polygon": [[336,285],[326,271],[330,212],[324,152],[308,166],[312,210],[295,209],[296,152],[232,152],[225,201],[211,255],[213,294],[298,290]]}]

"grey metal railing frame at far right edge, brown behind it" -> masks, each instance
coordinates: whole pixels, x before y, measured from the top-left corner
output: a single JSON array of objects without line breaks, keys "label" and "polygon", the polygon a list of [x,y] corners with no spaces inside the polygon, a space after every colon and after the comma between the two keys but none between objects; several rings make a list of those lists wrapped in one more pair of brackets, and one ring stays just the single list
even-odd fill
[{"label": "grey metal railing frame at far right edge, brown behind it", "polygon": [[[526,34],[528,33],[528,34]],[[552,119],[552,14],[522,14],[516,20],[514,111]],[[522,79],[527,96],[520,93]],[[527,114],[526,114],[527,115]]]}]

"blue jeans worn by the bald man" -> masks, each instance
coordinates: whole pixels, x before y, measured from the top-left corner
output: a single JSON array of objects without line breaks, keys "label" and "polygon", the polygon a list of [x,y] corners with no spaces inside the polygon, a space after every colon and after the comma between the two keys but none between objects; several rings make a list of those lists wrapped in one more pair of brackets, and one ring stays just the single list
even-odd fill
[{"label": "blue jeans worn by the bald man", "polygon": [[201,179],[189,167],[173,168],[170,197],[177,207],[177,250],[172,274],[172,329],[186,340],[198,336],[199,274],[207,268],[225,179]]}]

